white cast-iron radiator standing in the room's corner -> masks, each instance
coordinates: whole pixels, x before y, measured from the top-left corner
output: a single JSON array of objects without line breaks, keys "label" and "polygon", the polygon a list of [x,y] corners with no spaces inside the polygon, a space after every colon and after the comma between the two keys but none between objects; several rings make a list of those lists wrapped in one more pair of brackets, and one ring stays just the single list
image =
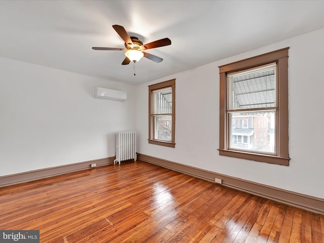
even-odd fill
[{"label": "white cast-iron radiator standing in the room's corner", "polygon": [[136,161],[136,133],[118,132],[116,133],[116,159],[113,164],[120,161],[134,159]]}]

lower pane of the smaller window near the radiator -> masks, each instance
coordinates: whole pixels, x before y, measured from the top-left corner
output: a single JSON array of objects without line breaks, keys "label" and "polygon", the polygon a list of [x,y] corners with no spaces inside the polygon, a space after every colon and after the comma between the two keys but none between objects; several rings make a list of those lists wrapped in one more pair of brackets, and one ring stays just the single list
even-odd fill
[{"label": "lower pane of the smaller window near the radiator", "polygon": [[154,139],[171,142],[172,116],[154,116]]}]

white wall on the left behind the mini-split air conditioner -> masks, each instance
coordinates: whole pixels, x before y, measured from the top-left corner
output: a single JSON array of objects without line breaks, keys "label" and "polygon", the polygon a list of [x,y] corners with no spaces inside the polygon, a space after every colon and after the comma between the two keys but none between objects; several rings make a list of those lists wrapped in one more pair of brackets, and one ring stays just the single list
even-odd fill
[{"label": "white wall on the left behind the mini-split air conditioner", "polygon": [[[128,99],[95,99],[96,86]],[[114,156],[134,116],[134,86],[0,58],[0,176]]]}]

